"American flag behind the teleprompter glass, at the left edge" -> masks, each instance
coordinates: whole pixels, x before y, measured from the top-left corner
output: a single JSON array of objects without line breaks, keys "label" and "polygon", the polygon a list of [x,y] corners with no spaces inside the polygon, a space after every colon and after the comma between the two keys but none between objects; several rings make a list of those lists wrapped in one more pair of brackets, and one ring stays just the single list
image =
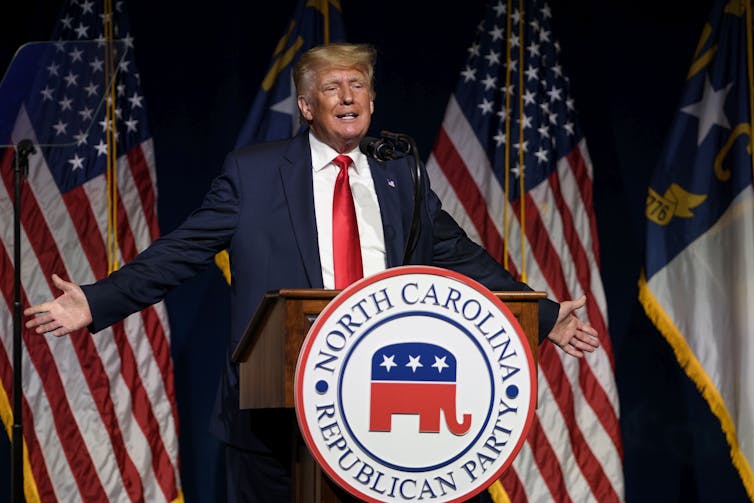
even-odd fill
[{"label": "American flag behind the teleprompter glass, at the left edge", "polygon": [[[158,236],[152,138],[125,9],[123,2],[65,2],[55,42],[23,47],[3,81],[3,90],[28,93],[18,106],[5,101],[0,126],[12,130],[0,127],[2,143],[37,145],[21,199],[24,306],[60,294],[52,273],[94,282]],[[9,427],[12,148],[1,167],[0,412]],[[23,342],[28,501],[183,499],[164,305],[94,335],[24,329]]]}]

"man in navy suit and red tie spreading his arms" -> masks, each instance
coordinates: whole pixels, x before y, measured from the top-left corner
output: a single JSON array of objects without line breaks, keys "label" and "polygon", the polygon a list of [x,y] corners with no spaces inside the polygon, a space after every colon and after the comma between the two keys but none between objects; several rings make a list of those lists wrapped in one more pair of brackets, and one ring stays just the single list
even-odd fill
[{"label": "man in navy suit and red tie spreading his arms", "polygon": [[[491,290],[531,290],[465,235],[428,184],[414,226],[418,234],[412,234],[411,159],[378,162],[359,148],[374,111],[375,57],[363,44],[305,53],[294,70],[300,115],[308,125],[303,132],[230,153],[202,205],[176,230],[94,284],[78,286],[53,275],[63,293],[24,312],[31,317],[26,326],[38,333],[62,336],[84,327],[97,332],[162,300],[227,249],[231,333],[211,430],[227,446],[229,501],[290,501],[288,467],[265,444],[264,433],[275,424],[259,424],[239,409],[231,363],[265,292],[340,289],[404,264],[451,269]],[[404,260],[410,235],[416,239]],[[540,301],[540,342],[547,338],[574,357],[594,351],[596,330],[574,315],[585,302]]]}]

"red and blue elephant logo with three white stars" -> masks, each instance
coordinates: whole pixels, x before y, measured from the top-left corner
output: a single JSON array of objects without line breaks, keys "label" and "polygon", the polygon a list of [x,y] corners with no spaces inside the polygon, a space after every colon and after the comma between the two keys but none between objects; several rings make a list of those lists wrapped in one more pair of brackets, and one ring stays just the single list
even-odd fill
[{"label": "red and blue elephant logo with three white stars", "polygon": [[369,431],[391,431],[393,414],[419,416],[419,432],[438,433],[440,413],[448,430],[463,435],[471,414],[456,416],[456,358],[429,343],[384,346],[372,356]]}]

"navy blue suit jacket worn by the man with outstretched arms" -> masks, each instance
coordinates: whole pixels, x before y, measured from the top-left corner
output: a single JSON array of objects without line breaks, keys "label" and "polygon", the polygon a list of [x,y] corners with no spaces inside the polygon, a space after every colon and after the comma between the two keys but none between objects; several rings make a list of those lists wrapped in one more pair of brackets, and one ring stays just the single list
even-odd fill
[{"label": "navy blue suit jacket worn by the man with outstretched arms", "polygon": [[[369,165],[382,215],[386,265],[403,265],[413,212],[412,163],[370,159]],[[89,328],[96,332],[159,302],[225,249],[231,268],[231,333],[211,429],[225,442],[257,449],[261,446],[251,433],[251,415],[238,407],[237,368],[230,356],[266,292],[323,288],[308,132],[229,154],[201,207],[180,227],[108,278],[82,289],[94,320]],[[492,290],[530,290],[466,236],[428,184],[421,233],[408,263],[451,269]],[[558,308],[556,302],[540,302],[540,340],[553,326]]]}]

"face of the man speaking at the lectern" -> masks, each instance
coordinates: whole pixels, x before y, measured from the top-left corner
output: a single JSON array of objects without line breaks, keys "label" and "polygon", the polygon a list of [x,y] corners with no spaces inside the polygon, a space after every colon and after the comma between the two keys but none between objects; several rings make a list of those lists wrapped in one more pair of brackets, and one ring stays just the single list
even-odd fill
[{"label": "face of the man speaking at the lectern", "polygon": [[341,153],[358,146],[374,112],[370,83],[352,67],[320,70],[311,102],[303,96],[298,102],[317,138]]}]

